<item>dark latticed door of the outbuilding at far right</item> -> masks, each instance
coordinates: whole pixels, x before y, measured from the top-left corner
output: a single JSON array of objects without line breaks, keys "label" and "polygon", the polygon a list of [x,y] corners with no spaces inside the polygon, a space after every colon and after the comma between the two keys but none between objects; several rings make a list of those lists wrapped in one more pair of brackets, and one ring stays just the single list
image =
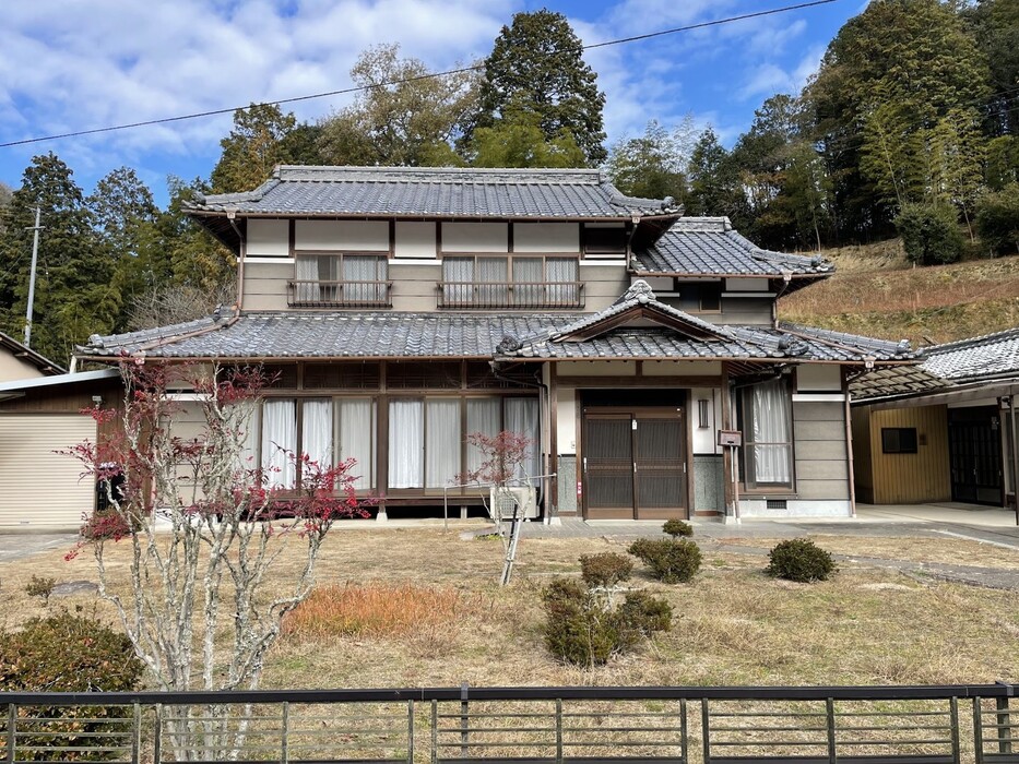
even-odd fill
[{"label": "dark latticed door of the outbuilding at far right", "polygon": [[948,410],[951,498],[1002,506],[1000,417],[994,406]]}]

